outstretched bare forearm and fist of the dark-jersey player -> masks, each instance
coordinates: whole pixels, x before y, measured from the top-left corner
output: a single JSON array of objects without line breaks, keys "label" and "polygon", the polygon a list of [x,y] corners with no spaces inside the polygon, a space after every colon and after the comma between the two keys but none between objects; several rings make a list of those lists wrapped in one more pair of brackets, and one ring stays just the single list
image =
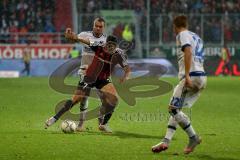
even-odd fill
[{"label": "outstretched bare forearm and fist of the dark-jersey player", "polygon": [[90,41],[88,39],[79,38],[74,32],[72,32],[71,28],[66,29],[64,36],[70,42],[81,42],[83,44],[90,45]]}]

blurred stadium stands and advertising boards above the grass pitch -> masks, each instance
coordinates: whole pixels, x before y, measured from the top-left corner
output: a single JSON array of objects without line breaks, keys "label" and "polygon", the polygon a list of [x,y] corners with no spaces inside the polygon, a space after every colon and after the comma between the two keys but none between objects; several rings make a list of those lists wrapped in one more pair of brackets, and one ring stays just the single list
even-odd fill
[{"label": "blurred stadium stands and advertising boards above the grass pitch", "polygon": [[[93,18],[102,16],[107,21],[107,34],[133,42],[133,48],[127,52],[133,63],[143,58],[164,65],[170,62],[173,65],[170,74],[176,75],[171,22],[174,15],[183,13],[189,16],[190,30],[205,42],[208,74],[222,74],[217,70],[221,68],[222,48],[226,44],[232,70],[227,74],[240,75],[240,2],[237,0],[221,3],[216,0],[3,0],[0,10],[1,71],[23,69],[22,51],[29,42],[31,75],[48,76],[68,59],[73,46],[64,39],[65,28],[71,27],[76,33],[91,30]],[[75,46],[81,53],[81,45]],[[168,62],[162,62],[163,59]]]}]

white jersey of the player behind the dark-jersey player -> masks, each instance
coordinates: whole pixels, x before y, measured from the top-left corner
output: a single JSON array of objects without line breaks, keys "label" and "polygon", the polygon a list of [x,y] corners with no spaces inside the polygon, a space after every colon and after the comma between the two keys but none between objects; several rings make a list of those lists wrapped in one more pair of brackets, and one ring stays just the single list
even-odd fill
[{"label": "white jersey of the player behind the dark-jersey player", "polygon": [[[81,32],[80,34],[78,34],[78,37],[89,39],[92,42],[100,44],[106,43],[107,39],[106,35],[104,34],[102,34],[101,37],[95,37],[93,31]],[[84,66],[90,65],[92,63],[93,57],[94,51],[88,45],[84,45],[82,49],[81,67],[84,68]]]}]

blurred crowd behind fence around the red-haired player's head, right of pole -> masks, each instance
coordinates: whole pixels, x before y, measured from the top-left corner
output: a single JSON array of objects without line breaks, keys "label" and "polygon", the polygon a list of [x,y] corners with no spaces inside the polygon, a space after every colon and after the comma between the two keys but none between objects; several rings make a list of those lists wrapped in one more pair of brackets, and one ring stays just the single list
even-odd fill
[{"label": "blurred crowd behind fence around the red-haired player's head, right of pole", "polygon": [[[206,42],[220,43],[224,34],[227,42],[239,42],[240,0],[151,0],[151,30],[159,32],[159,17],[162,16],[162,40],[172,41],[174,35],[171,21],[174,14],[189,14],[189,27]],[[155,34],[153,34],[155,35]],[[151,38],[159,40],[158,36]]]}]

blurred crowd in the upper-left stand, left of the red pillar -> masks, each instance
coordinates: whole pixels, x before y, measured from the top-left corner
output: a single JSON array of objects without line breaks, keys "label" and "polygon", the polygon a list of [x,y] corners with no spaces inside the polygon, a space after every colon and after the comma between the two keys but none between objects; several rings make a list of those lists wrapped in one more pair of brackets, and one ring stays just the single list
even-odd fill
[{"label": "blurred crowd in the upper-left stand, left of the red pillar", "polygon": [[54,0],[1,0],[0,33],[54,32]]}]

